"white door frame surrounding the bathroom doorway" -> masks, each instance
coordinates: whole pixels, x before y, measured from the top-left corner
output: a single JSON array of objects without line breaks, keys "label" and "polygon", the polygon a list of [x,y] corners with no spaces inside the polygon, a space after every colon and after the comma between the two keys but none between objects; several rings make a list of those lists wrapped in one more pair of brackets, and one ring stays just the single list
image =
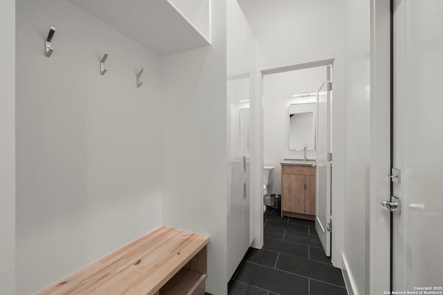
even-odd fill
[{"label": "white door frame surrounding the bathroom doorway", "polygon": [[[251,155],[253,161],[254,174],[254,196],[258,198],[259,202],[254,204],[254,225],[253,236],[254,241],[251,247],[261,249],[263,247],[263,77],[273,73],[282,73],[289,70],[301,70],[303,68],[312,68],[314,66],[332,65],[334,68],[334,97],[344,97],[344,64],[343,64],[343,50],[326,50],[323,52],[314,53],[312,55],[302,55],[298,57],[291,57],[288,59],[280,59],[274,61],[265,61],[255,66],[255,95],[253,104],[254,124],[256,126],[254,131],[255,145],[254,155]],[[345,111],[344,99],[336,98],[334,100],[332,109],[332,138],[334,138],[332,151],[334,153],[334,162],[341,163],[336,165],[334,169],[334,183],[332,184],[332,211],[334,212],[334,229],[332,230],[332,263],[336,267],[343,268],[343,244],[344,244],[344,206],[343,196],[345,179],[345,120],[343,116],[334,113],[341,113]]]}]

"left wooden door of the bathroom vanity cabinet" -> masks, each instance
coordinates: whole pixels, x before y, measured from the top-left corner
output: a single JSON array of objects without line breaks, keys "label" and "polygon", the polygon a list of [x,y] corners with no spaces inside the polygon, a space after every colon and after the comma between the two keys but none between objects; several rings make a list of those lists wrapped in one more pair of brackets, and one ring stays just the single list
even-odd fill
[{"label": "left wooden door of the bathroom vanity cabinet", "polygon": [[282,174],[282,211],[305,213],[305,176]]}]

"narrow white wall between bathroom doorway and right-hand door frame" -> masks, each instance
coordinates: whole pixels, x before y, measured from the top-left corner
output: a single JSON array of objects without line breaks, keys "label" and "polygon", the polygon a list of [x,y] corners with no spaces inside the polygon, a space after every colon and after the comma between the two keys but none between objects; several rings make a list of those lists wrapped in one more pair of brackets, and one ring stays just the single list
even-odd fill
[{"label": "narrow white wall between bathroom doorway and right-hand door frame", "polygon": [[346,24],[347,153],[343,258],[354,294],[369,294],[370,1],[348,0]]}]

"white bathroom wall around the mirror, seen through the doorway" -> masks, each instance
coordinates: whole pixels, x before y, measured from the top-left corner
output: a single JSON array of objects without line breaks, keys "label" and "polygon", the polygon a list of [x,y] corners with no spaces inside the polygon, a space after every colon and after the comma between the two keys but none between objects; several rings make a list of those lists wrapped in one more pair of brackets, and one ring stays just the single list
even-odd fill
[{"label": "white bathroom wall around the mirror, seen through the doorway", "polygon": [[[275,167],[271,172],[272,183],[265,198],[267,205],[271,205],[271,193],[281,193],[280,162],[284,158],[302,159],[304,156],[303,151],[289,149],[289,106],[300,101],[300,98],[291,95],[317,92],[325,79],[325,66],[263,77],[263,160],[266,166]],[[315,155],[315,151],[307,151],[308,159],[315,159]]]}]

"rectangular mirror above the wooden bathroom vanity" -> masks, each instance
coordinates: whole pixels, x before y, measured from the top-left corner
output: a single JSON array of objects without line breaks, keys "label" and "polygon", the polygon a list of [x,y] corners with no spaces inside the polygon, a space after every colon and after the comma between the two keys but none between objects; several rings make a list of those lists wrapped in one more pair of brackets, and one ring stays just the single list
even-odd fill
[{"label": "rectangular mirror above the wooden bathroom vanity", "polygon": [[315,150],[316,104],[291,104],[289,106],[289,149]]}]

